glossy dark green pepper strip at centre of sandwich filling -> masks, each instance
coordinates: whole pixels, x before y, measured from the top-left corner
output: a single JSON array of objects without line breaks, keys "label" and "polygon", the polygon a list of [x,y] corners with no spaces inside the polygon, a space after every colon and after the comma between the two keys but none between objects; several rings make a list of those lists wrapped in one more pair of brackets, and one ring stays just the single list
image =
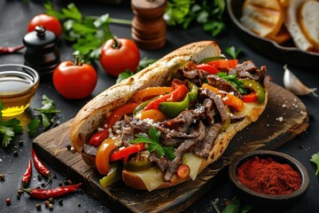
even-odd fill
[{"label": "glossy dark green pepper strip at centre of sandwich filling", "polygon": [[159,110],[169,118],[174,118],[183,110],[190,106],[190,95],[187,93],[186,98],[179,102],[161,102]]}]

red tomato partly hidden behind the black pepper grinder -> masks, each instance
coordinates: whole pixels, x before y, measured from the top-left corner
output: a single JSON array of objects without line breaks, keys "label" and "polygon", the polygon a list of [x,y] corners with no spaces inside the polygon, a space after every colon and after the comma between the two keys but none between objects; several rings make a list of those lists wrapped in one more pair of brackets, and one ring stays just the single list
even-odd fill
[{"label": "red tomato partly hidden behind the black pepper grinder", "polygon": [[62,25],[59,20],[47,14],[36,15],[28,24],[27,32],[34,31],[35,27],[39,25],[42,25],[47,30],[52,31],[58,37],[60,37],[62,34]]}]

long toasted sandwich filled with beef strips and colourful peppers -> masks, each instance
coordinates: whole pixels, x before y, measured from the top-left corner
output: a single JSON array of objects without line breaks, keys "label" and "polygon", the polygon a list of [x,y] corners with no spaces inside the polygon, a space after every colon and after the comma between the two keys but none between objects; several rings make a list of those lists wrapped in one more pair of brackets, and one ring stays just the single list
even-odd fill
[{"label": "long toasted sandwich filled with beef strips and colourful peppers", "polygon": [[152,191],[195,179],[268,101],[266,67],[187,44],[103,91],[74,118],[71,141],[107,186]]}]

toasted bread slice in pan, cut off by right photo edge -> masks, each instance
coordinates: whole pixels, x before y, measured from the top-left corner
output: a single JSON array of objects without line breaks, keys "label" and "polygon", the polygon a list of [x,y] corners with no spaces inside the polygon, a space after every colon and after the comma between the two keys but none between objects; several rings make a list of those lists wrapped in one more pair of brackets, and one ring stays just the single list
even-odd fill
[{"label": "toasted bread slice in pan, cut off by right photo edge", "polygon": [[302,32],[319,51],[319,2],[305,1],[300,6],[299,23]]}]

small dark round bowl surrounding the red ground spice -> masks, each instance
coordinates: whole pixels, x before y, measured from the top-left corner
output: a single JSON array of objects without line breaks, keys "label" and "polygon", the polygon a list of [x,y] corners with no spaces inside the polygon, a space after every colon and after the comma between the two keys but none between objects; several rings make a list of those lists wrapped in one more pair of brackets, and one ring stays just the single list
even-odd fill
[{"label": "small dark round bowl surrounding the red ground spice", "polygon": [[[287,163],[293,170],[297,171],[301,177],[301,185],[296,191],[284,195],[272,195],[257,193],[244,184],[237,178],[237,168],[249,159],[258,156],[259,159],[272,158],[275,162]],[[273,212],[285,209],[292,209],[307,193],[309,185],[309,177],[306,168],[296,159],[291,156],[275,151],[256,150],[248,154],[237,156],[229,167],[230,182],[239,199],[243,199],[247,204],[253,206],[256,212]]]}]

